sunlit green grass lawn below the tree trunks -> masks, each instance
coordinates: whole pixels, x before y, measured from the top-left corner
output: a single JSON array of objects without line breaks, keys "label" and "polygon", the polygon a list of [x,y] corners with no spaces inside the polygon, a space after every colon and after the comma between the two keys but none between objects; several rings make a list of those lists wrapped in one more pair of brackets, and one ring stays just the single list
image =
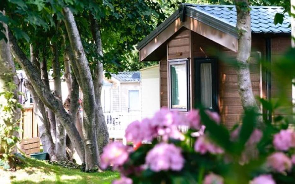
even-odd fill
[{"label": "sunlit green grass lawn below the tree trunks", "polygon": [[0,169],[1,184],[109,184],[117,177],[119,173],[113,171],[83,173],[33,159],[26,159],[16,172]]}]

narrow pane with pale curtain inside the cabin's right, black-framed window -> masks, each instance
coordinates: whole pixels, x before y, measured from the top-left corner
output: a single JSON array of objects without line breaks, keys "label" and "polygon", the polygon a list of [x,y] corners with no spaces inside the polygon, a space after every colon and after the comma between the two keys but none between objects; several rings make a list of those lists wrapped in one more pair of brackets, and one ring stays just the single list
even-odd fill
[{"label": "narrow pane with pale curtain inside the cabin's right, black-framed window", "polygon": [[212,107],[211,63],[201,63],[201,103],[206,108]]}]

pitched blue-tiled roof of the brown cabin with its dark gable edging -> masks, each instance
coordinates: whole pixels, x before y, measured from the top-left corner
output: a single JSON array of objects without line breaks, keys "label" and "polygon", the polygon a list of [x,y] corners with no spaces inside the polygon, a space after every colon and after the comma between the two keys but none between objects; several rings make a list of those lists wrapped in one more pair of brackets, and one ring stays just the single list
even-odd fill
[{"label": "pitched blue-tiled roof of the brown cabin with its dark gable edging", "polygon": [[[283,24],[274,24],[275,14],[283,13],[282,7],[265,7],[252,6],[251,7],[251,29],[252,33],[291,33],[289,24],[291,18],[288,14],[284,14]],[[147,37],[138,43],[137,49],[142,49],[148,42],[154,39],[165,28],[167,28],[177,18],[183,20],[184,15],[192,17],[204,24],[216,28],[224,33],[229,33],[234,37],[238,37],[236,29],[236,8],[234,5],[198,5],[184,3],[179,6],[170,17],[168,17],[162,24],[153,30]]]}]

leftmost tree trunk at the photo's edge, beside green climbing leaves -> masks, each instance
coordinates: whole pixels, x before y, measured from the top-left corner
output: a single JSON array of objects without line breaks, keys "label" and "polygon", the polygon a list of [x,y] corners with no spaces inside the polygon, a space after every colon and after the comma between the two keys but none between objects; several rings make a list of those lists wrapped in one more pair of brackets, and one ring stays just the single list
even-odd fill
[{"label": "leftmost tree trunk at the photo's edge, beside green climbing leaves", "polygon": [[[5,15],[4,11],[0,11],[0,14]],[[11,51],[10,51],[10,47],[9,47],[9,39],[8,39],[8,29],[7,29],[7,24],[4,24],[2,22],[0,22],[0,24],[2,24],[4,30],[2,30],[2,33],[6,36],[6,40],[2,39],[0,40],[0,84],[2,83],[4,86],[0,86],[3,87],[4,90],[9,90],[8,86],[9,83],[14,83],[16,85],[16,89],[14,90],[14,99],[16,99],[17,101],[18,99],[18,89],[17,86],[19,84],[19,80],[18,77],[16,75],[16,68],[14,65],[14,62],[12,60],[12,56],[11,56]],[[2,89],[0,89],[0,91],[2,91]],[[14,113],[14,117],[13,119],[15,121],[20,119],[20,109],[17,108],[16,112]],[[19,137],[19,133],[18,132],[14,132],[13,133],[14,136]],[[14,152],[16,152],[16,147]]]}]

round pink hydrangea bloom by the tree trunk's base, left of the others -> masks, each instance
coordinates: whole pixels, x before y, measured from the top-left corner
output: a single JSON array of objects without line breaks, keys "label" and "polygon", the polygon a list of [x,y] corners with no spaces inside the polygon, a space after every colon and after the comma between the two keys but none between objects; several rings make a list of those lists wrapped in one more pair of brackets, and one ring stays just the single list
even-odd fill
[{"label": "round pink hydrangea bloom by the tree trunk's base, left of the others", "polygon": [[101,155],[101,167],[106,169],[107,166],[112,165],[117,168],[123,165],[128,159],[128,147],[120,142],[112,142],[103,148]]}]

